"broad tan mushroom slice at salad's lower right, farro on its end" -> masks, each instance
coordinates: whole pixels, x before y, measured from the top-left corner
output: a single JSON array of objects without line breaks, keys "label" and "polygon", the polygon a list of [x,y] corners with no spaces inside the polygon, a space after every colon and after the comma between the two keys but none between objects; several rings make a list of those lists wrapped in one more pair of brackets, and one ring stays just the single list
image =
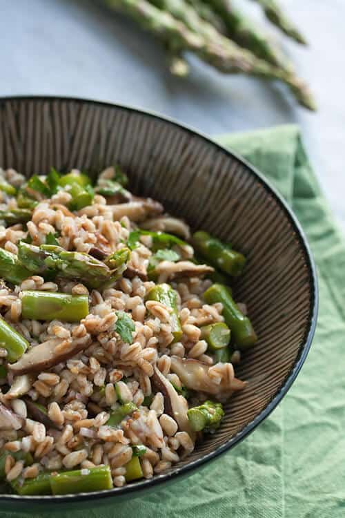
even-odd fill
[{"label": "broad tan mushroom slice at salad's lower right, farro on its end", "polygon": [[[228,365],[231,365],[231,363],[228,363]],[[231,367],[233,366],[231,365]],[[199,360],[172,356],[170,368],[188,389],[206,392],[206,394],[213,394],[214,396],[230,396],[233,391],[242,390],[246,386],[245,381],[235,378],[233,368],[231,369],[231,375],[221,378],[220,383],[217,383],[208,375],[210,366]]]}]

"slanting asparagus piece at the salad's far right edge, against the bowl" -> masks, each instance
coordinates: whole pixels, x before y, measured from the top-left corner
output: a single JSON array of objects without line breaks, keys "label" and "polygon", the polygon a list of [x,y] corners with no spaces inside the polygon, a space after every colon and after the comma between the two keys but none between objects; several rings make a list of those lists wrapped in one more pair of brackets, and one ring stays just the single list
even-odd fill
[{"label": "slanting asparagus piece at the salad's far right edge, against the bowl", "polygon": [[214,284],[206,289],[204,299],[208,304],[222,303],[223,316],[231,329],[235,343],[239,349],[248,349],[257,342],[257,336],[247,316],[237,307],[226,286]]}]

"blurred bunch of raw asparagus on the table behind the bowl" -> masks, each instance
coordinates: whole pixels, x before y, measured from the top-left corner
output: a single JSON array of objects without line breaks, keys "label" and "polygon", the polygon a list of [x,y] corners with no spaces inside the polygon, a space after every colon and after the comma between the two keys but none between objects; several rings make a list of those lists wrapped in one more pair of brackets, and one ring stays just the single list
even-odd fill
[{"label": "blurred bunch of raw asparagus on the table behind the bowl", "polygon": [[[231,0],[104,0],[116,12],[135,19],[161,40],[170,56],[170,70],[186,75],[185,52],[222,73],[243,73],[278,79],[290,88],[297,102],[315,110],[308,86],[297,77],[279,47],[253,22],[233,7]],[[266,17],[300,44],[304,37],[275,0],[255,0]]]}]

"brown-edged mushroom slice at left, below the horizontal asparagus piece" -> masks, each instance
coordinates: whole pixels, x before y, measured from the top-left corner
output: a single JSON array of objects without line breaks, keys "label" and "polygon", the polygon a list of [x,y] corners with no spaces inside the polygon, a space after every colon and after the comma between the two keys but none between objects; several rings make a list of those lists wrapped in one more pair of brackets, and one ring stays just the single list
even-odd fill
[{"label": "brown-edged mushroom slice at left, below the horizontal asparagus piece", "polygon": [[16,363],[8,365],[8,368],[14,374],[40,372],[68,360],[68,358],[90,345],[90,339],[85,341],[85,337],[77,338],[72,343],[66,343],[66,347],[63,342],[66,343],[66,340],[51,338],[46,342],[35,345],[28,349]]}]

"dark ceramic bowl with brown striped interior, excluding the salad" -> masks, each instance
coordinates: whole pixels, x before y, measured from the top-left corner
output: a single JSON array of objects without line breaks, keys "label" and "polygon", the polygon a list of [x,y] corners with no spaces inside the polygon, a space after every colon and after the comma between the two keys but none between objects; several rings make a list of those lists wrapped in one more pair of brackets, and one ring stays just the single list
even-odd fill
[{"label": "dark ceramic bowl with brown striped interior, excluding the salad", "polygon": [[151,480],[107,492],[63,497],[0,495],[8,510],[99,506],[132,497],[200,468],[233,448],[282,400],[301,369],[317,318],[317,278],[306,238],[286,203],[240,157],[176,122],[124,106],[82,99],[0,100],[0,166],[30,176],[51,166],[97,175],[119,163],[136,193],[164,203],[248,257],[235,285],[259,336],[237,368],[248,387],[190,457]]}]

